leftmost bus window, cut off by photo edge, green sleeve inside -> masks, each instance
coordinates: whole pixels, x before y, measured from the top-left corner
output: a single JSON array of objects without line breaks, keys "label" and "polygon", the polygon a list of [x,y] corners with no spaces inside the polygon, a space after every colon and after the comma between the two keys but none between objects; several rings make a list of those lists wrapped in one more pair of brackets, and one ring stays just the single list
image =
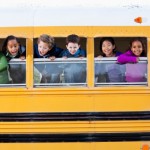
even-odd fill
[{"label": "leftmost bus window, cut off by photo edge, green sleeve inside", "polygon": [[[11,37],[12,38],[12,37]],[[1,49],[5,39],[1,39]],[[15,56],[8,49],[0,52],[0,86],[16,87],[26,85],[26,39],[18,38],[19,46]],[[23,54],[23,55],[22,55]],[[23,56],[24,60],[20,57]]]}]

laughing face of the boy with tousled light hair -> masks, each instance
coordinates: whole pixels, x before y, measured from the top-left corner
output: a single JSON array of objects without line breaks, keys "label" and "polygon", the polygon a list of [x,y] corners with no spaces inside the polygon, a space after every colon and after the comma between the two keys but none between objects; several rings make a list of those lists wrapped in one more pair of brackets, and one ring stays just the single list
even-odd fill
[{"label": "laughing face of the boy with tousled light hair", "polygon": [[38,51],[40,56],[44,56],[49,50],[48,43],[44,43],[43,41],[38,43]]}]

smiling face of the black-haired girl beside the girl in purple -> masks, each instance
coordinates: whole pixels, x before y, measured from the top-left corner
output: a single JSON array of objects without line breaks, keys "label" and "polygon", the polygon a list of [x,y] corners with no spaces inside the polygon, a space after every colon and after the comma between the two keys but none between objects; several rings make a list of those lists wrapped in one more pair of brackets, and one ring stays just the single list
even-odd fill
[{"label": "smiling face of the black-haired girl beside the girl in purple", "polygon": [[102,44],[102,51],[106,55],[106,57],[113,56],[114,48],[115,48],[115,45],[113,45],[110,41],[104,41]]}]

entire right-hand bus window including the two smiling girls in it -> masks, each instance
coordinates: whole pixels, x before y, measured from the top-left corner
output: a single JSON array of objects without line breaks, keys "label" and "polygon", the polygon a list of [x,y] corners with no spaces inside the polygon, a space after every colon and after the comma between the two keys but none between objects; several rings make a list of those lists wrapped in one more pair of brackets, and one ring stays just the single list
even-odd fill
[{"label": "entire right-hand bus window including the two smiling girls in it", "polygon": [[[140,46],[136,49],[139,40],[142,50]],[[147,38],[98,37],[94,42],[95,86],[148,84]]]}]

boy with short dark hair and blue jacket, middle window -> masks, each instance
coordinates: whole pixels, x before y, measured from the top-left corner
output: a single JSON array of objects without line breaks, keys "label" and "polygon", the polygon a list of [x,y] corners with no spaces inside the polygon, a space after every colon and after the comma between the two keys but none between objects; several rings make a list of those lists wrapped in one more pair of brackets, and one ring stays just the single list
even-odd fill
[{"label": "boy with short dark hair and blue jacket, middle window", "polygon": [[[71,34],[66,38],[66,50],[62,52],[62,57],[67,58],[84,58],[86,51],[80,48],[80,38],[78,35]],[[86,65],[71,64],[65,67],[66,83],[83,83],[86,80]]]}]

